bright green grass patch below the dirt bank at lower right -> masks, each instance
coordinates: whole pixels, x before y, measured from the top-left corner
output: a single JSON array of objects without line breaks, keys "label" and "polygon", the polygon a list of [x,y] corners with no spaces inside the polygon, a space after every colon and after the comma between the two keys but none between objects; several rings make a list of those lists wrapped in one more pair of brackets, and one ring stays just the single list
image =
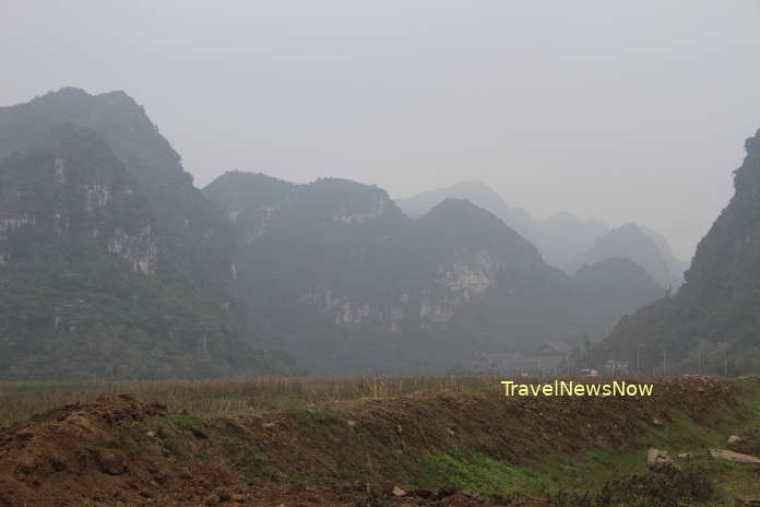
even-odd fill
[{"label": "bright green grass patch below the dirt bank at lower right", "polygon": [[[747,396],[748,403],[757,403],[760,410],[760,384]],[[667,415],[662,427],[644,424],[642,436],[630,450],[597,447],[574,456],[543,456],[521,467],[477,451],[428,455],[419,465],[420,482],[431,487],[455,485],[484,495],[497,491],[512,496],[547,496],[560,492],[583,495],[599,492],[616,477],[645,475],[646,450],[656,447],[674,457],[689,452],[692,459],[680,462],[684,470],[712,477],[723,496],[760,496],[752,468],[713,460],[706,455],[708,448],[725,447],[728,435],[758,427],[760,417],[748,423],[738,413],[731,414],[711,428],[700,426],[682,411],[672,410]]]}]

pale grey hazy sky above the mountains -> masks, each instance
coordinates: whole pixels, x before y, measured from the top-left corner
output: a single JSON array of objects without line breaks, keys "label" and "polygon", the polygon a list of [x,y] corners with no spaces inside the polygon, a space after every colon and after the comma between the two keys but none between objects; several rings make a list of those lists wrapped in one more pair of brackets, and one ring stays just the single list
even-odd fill
[{"label": "pale grey hazy sky above the mountains", "polygon": [[753,0],[0,0],[0,104],[123,90],[199,186],[482,179],[690,257],[760,128]]}]

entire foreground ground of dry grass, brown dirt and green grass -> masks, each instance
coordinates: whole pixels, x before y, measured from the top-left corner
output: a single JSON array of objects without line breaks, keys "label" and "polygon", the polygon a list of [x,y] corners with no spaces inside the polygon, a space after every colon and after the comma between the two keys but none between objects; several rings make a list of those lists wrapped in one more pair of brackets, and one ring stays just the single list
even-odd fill
[{"label": "entire foreground ground of dry grass, brown dirt and green grass", "polygon": [[[508,399],[500,380],[0,384],[0,506],[760,498],[760,467],[708,456],[732,435],[743,436],[733,450],[760,456],[759,379],[631,379],[655,386],[636,399]],[[680,470],[648,470],[653,447],[689,457],[675,459]]]}]

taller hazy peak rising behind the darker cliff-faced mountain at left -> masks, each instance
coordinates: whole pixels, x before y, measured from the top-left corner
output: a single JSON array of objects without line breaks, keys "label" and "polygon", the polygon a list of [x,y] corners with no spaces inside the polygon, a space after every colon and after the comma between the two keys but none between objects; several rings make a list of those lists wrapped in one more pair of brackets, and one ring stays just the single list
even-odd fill
[{"label": "taller hazy peak rising behind the darker cliff-faced mountain at left", "polygon": [[68,122],[97,132],[140,186],[145,205],[156,217],[161,250],[170,252],[166,257],[175,263],[177,281],[190,283],[189,291],[225,294],[231,284],[233,228],[192,185],[179,154],[144,108],[126,93],[91,95],[66,87],[26,104],[1,107],[0,160]]}]

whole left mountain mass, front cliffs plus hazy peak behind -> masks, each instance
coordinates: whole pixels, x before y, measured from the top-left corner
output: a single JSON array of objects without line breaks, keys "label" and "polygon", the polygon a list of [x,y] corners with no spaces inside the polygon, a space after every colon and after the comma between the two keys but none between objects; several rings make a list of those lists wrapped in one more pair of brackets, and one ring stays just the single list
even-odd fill
[{"label": "whole left mountain mass, front cliffs plus hazy peak behind", "polygon": [[0,378],[286,367],[235,298],[234,226],[126,94],[0,108]]}]

